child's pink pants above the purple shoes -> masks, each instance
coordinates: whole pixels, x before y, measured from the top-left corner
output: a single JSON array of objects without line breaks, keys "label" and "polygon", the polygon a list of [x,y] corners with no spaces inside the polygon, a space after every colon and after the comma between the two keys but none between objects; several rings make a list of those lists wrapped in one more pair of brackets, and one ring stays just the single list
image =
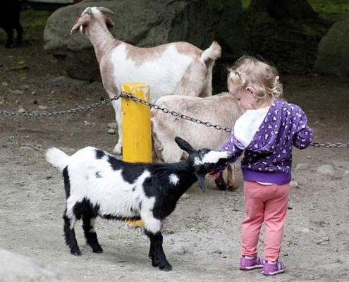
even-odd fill
[{"label": "child's pink pants above the purple shoes", "polygon": [[255,257],[259,231],[264,229],[264,259],[275,261],[280,254],[290,184],[262,185],[245,181],[246,217],[241,224],[241,255]]}]

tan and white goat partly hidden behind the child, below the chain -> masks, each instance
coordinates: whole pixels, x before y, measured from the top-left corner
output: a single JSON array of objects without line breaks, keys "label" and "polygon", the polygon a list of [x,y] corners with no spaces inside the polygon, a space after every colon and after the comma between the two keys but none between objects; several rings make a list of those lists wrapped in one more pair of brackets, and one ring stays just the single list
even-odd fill
[{"label": "tan and white goat partly hidden behind the child, below the chain", "polygon": [[[224,92],[211,97],[186,97],[171,95],[161,97],[156,103],[158,106],[185,114],[201,121],[209,121],[216,125],[226,128],[232,128],[235,121],[243,114],[240,107],[232,94]],[[185,152],[180,150],[175,142],[174,137],[183,136],[188,140],[192,147],[208,147],[210,149],[219,149],[231,133],[225,130],[217,130],[213,127],[205,127],[192,121],[165,114],[163,111],[151,109],[152,119],[152,138],[154,149],[154,160],[164,162],[177,162],[185,159]],[[225,183],[223,175],[216,179],[216,185],[220,190],[235,190],[238,185],[235,181],[233,168],[228,166],[228,176]]]}]

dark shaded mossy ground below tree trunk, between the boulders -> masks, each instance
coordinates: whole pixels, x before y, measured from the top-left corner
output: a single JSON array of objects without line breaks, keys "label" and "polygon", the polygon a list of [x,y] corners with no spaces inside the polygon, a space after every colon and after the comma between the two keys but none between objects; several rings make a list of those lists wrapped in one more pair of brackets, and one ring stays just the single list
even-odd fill
[{"label": "dark shaded mossy ground below tree trunk, between the boulders", "polygon": [[259,9],[251,11],[250,1],[242,1],[250,42],[247,53],[262,56],[281,73],[312,72],[322,37],[335,20],[349,11],[348,0],[308,0],[319,18],[276,20]]}]

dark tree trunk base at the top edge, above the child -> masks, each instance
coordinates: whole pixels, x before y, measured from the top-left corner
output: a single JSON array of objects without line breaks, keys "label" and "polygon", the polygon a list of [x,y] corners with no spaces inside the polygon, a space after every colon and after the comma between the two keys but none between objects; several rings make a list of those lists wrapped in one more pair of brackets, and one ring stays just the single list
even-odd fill
[{"label": "dark tree trunk base at the top edge, above the child", "polygon": [[314,20],[318,18],[307,0],[251,0],[250,11],[264,11],[276,20]]}]

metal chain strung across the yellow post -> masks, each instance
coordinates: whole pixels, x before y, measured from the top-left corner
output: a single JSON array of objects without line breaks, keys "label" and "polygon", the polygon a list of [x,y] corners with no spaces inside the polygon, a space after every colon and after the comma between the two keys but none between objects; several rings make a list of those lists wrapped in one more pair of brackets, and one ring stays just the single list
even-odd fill
[{"label": "metal chain strung across the yellow post", "polygon": [[[201,121],[198,118],[192,118],[190,116],[186,116],[185,114],[180,114],[177,111],[170,111],[169,109],[163,108],[161,106],[158,106],[157,104],[152,104],[150,102],[147,102],[145,100],[142,100],[138,97],[133,96],[133,94],[127,93],[127,92],[123,92],[121,94],[118,94],[117,96],[114,96],[110,99],[105,99],[102,102],[99,103],[95,103],[95,104],[91,104],[89,106],[80,106],[76,109],[71,109],[71,110],[63,110],[63,111],[53,111],[53,112],[49,112],[49,113],[17,113],[17,112],[13,112],[13,111],[2,111],[0,110],[0,115],[6,115],[6,116],[16,116],[16,117],[49,117],[49,116],[63,116],[65,114],[75,114],[75,113],[80,113],[82,111],[87,111],[90,109],[94,109],[97,108],[97,106],[103,106],[105,104],[109,104],[113,101],[116,101],[117,99],[119,99],[120,97],[123,98],[130,98],[133,99],[133,101],[135,102],[139,102],[141,104],[144,104],[146,106],[149,106],[150,108],[156,109],[156,110],[160,110],[163,111],[164,114],[171,114],[172,116],[176,116],[179,118],[183,118],[187,121],[192,121],[194,123],[198,123],[198,124],[202,124],[202,125],[206,125],[207,127],[213,127],[217,130],[224,130],[228,133],[231,133],[231,128],[224,128],[221,125],[218,124],[213,124],[210,123],[209,121]],[[310,146],[313,146],[315,148],[319,148],[319,147],[324,147],[324,148],[349,148],[349,144],[348,143],[318,143],[318,142],[314,142],[312,144],[310,144]]]}]

